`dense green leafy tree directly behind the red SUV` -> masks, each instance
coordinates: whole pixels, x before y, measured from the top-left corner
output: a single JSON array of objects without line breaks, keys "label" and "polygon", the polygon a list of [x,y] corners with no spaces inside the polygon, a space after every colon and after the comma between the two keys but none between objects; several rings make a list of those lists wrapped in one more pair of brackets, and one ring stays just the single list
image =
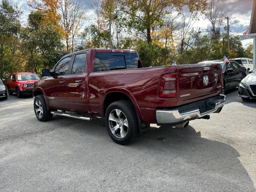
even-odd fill
[{"label": "dense green leafy tree directly behind the red SUV", "polygon": [[44,16],[30,12],[28,25],[21,30],[20,50],[26,60],[26,70],[39,73],[41,68],[56,64],[62,50],[61,38],[56,28],[42,25]]}]

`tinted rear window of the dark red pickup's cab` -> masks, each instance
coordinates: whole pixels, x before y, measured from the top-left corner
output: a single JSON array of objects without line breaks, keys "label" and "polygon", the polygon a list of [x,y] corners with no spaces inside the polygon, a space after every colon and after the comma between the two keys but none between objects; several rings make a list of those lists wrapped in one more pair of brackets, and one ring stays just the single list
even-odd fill
[{"label": "tinted rear window of the dark red pickup's cab", "polygon": [[141,67],[140,59],[136,53],[104,52],[95,55],[95,72]]}]

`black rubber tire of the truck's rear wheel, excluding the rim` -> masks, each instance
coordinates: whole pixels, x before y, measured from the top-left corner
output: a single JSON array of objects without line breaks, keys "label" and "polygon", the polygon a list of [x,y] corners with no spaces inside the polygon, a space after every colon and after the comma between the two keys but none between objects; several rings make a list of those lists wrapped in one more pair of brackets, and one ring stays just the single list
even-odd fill
[{"label": "black rubber tire of the truck's rear wheel, excluding the rim", "polygon": [[[128,130],[124,138],[117,138],[116,136],[114,136],[114,134],[110,130],[110,124],[109,124],[108,118],[110,113],[113,110],[121,110],[122,114],[124,114],[124,116],[128,121]],[[121,101],[116,101],[111,103],[108,106],[105,113],[105,124],[106,124],[108,135],[117,144],[127,145],[133,142],[134,140],[136,140],[136,138],[138,138],[139,136],[139,123],[138,123],[137,114],[133,104],[130,101],[121,100]]]}]

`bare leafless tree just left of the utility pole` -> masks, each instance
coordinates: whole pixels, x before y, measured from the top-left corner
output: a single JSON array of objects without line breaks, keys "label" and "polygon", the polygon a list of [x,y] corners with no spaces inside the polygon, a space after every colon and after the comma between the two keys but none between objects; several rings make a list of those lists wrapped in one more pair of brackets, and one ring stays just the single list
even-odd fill
[{"label": "bare leafless tree just left of the utility pole", "polygon": [[209,0],[206,6],[206,18],[210,21],[211,26],[208,30],[212,40],[220,39],[220,26],[223,23],[225,16],[224,6],[220,4],[220,1]]}]

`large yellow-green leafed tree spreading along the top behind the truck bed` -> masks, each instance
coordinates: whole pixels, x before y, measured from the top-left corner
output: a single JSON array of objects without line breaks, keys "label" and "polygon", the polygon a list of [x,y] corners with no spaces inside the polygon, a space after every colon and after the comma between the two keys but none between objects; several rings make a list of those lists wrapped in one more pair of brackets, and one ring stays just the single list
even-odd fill
[{"label": "large yellow-green leafed tree spreading along the top behind the truck bed", "polygon": [[203,12],[206,0],[118,0],[121,10],[126,14],[127,25],[135,28],[147,42],[152,42],[151,30],[161,26],[166,14],[171,10],[180,12],[187,6],[190,12]]}]

